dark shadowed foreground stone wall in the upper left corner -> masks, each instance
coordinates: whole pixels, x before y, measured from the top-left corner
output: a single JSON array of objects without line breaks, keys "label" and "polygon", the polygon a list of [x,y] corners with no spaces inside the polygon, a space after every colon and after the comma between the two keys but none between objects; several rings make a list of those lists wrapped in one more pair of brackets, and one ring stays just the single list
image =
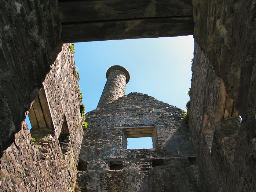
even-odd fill
[{"label": "dark shadowed foreground stone wall in the upper left corner", "polygon": [[61,51],[58,1],[2,0],[0,23],[1,156]]}]

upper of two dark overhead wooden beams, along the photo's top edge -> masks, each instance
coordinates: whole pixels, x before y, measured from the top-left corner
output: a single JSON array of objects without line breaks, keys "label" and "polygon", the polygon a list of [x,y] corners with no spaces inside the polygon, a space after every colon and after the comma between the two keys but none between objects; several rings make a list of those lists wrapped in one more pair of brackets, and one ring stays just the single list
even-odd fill
[{"label": "upper of two dark overhead wooden beams, along the photo's top edge", "polygon": [[62,23],[192,16],[191,0],[59,0]]}]

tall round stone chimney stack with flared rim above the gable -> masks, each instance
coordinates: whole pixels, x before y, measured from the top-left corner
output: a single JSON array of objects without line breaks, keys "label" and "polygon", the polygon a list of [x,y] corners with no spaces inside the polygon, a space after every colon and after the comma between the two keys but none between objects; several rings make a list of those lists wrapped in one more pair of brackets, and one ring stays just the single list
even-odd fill
[{"label": "tall round stone chimney stack with flared rim above the gable", "polygon": [[97,108],[117,100],[125,95],[125,86],[130,80],[130,74],[127,69],[120,65],[114,65],[107,70],[107,82],[101,94]]}]

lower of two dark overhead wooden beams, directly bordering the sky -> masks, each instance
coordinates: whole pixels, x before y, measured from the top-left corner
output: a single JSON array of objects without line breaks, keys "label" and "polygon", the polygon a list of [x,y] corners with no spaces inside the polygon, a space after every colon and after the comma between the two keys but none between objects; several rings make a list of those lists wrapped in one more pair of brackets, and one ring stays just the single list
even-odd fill
[{"label": "lower of two dark overhead wooden beams, directly bordering the sky", "polygon": [[192,16],[62,24],[64,43],[193,34]]}]

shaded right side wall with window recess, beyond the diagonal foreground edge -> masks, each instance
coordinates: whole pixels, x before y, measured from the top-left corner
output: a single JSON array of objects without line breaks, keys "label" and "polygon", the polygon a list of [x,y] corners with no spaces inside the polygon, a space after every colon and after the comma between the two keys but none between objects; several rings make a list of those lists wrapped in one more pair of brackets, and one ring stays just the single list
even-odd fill
[{"label": "shaded right side wall with window recess, beyond the diagonal foreground edge", "polygon": [[[192,70],[189,126],[206,188],[209,191],[252,191],[255,171],[249,162],[253,157],[244,157],[248,162],[244,166],[238,161],[248,150],[241,151],[238,147],[245,144],[246,140],[241,139],[246,124],[244,120],[240,123],[235,111],[231,118],[225,116],[228,109],[235,110],[231,107],[230,95],[197,44]],[[241,171],[243,169],[252,171]],[[252,179],[245,180],[246,176]]]}]

